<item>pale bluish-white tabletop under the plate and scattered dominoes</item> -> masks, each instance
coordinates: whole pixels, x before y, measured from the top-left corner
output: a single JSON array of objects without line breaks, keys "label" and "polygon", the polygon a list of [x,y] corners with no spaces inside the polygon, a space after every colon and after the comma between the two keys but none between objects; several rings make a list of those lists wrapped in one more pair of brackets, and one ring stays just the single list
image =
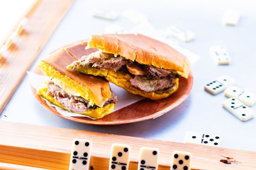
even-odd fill
[{"label": "pale bluish-white tabletop under the plate and scattered dominoes", "polygon": [[[236,80],[235,85],[256,94],[256,3],[253,2],[75,0],[38,59],[63,45],[87,39],[91,34],[103,34],[105,27],[113,23],[127,30],[135,26],[135,23],[121,15],[115,21],[92,17],[93,8],[113,9],[118,13],[134,8],[146,14],[148,21],[157,29],[179,25],[196,34],[192,42],[178,41],[181,47],[201,56],[192,65],[194,84],[191,94],[177,108],[157,119],[127,125],[87,125],[55,116],[39,105],[32,95],[29,78],[26,76],[0,114],[0,119],[172,142],[183,142],[186,131],[196,131],[221,136],[221,147],[256,151],[256,118],[242,122],[222,108],[222,101],[227,99],[223,93],[213,96],[204,91],[207,82],[227,74]],[[226,9],[233,9],[241,14],[237,26],[224,26],[221,23]],[[211,45],[224,45],[232,58],[231,64],[217,65],[209,53]],[[35,65],[32,69],[34,67]],[[256,105],[251,108],[256,112]]]}]

